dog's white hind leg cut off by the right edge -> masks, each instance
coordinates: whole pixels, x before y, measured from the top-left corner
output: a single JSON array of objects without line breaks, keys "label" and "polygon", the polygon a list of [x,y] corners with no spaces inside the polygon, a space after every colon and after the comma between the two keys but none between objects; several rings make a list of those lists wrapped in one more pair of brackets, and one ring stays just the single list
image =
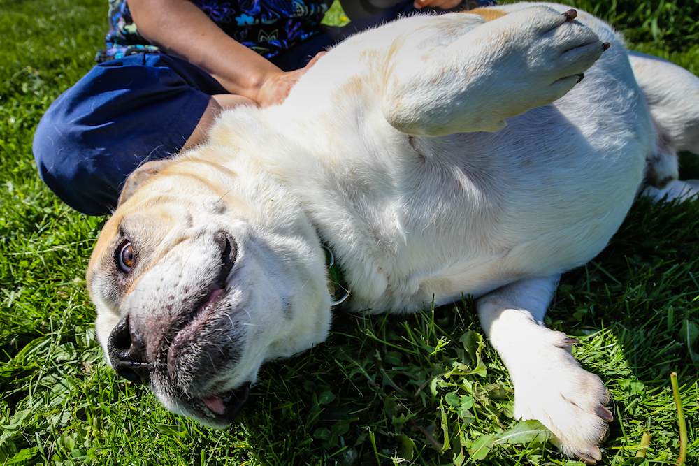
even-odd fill
[{"label": "dog's white hind leg cut off by the right edge", "polygon": [[670,61],[639,52],[628,55],[656,131],[656,147],[647,160],[647,182],[656,188],[650,194],[673,198],[682,191],[687,194],[677,183],[666,193],[658,194],[658,190],[677,180],[678,151],[699,154],[699,78]]}]

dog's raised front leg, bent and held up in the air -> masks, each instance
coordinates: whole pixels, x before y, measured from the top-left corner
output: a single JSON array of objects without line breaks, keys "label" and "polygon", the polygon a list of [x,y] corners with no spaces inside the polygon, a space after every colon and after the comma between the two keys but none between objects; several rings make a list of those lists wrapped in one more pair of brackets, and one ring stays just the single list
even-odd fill
[{"label": "dog's raised front leg, bent and held up in the air", "polygon": [[[497,131],[505,118],[552,103],[609,46],[575,15],[535,6],[480,24],[453,41],[445,37],[448,45],[404,46],[387,60],[384,117],[403,133],[440,136]],[[473,20],[462,16],[464,30],[473,28]],[[443,21],[447,36],[454,18]],[[440,19],[433,22],[439,31]],[[399,37],[394,45],[412,39]]]}]

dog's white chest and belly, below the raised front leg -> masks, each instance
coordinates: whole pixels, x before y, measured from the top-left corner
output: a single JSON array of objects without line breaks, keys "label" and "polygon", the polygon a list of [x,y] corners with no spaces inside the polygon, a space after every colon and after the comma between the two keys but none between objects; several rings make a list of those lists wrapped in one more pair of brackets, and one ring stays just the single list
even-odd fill
[{"label": "dog's white chest and belly, below the raised front leg", "polygon": [[[591,21],[612,48],[563,98],[495,133],[397,131],[375,98],[380,55],[350,43],[268,111],[276,133],[236,145],[301,200],[345,269],[355,309],[413,311],[570,270],[621,224],[652,134],[623,45]],[[245,133],[246,122],[230,124]],[[273,140],[286,143],[254,150]]]}]

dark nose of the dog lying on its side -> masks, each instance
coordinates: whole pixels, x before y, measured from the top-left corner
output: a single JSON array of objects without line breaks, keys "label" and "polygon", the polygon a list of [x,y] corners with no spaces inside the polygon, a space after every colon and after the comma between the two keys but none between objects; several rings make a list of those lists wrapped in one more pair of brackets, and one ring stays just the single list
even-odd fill
[{"label": "dark nose of the dog lying on its side", "polygon": [[135,384],[147,384],[150,381],[150,364],[145,361],[145,344],[143,338],[129,325],[129,316],[117,323],[110,333],[107,351],[112,367],[124,379]]}]

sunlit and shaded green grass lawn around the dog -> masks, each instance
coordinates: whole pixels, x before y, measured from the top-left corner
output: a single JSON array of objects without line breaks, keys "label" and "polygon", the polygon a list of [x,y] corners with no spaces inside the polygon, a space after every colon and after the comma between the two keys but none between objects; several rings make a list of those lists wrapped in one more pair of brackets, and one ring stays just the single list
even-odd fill
[{"label": "sunlit and shaded green grass lawn around the dog", "polygon": [[[698,1],[577,4],[632,48],[699,73]],[[512,385],[468,299],[407,317],[336,312],[327,342],[264,367],[227,431],[168,414],[117,379],[83,281],[104,219],[58,201],[31,158],[41,115],[93,65],[106,9],[0,0],[0,465],[579,464],[543,442],[540,425],[512,418]],[[691,154],[683,162],[685,177],[699,177]],[[605,464],[677,458],[673,371],[687,464],[698,464],[698,227],[699,204],[638,202],[598,258],[564,275],[547,316],[578,335],[575,355],[612,391]],[[647,460],[633,460],[643,430]]]}]

